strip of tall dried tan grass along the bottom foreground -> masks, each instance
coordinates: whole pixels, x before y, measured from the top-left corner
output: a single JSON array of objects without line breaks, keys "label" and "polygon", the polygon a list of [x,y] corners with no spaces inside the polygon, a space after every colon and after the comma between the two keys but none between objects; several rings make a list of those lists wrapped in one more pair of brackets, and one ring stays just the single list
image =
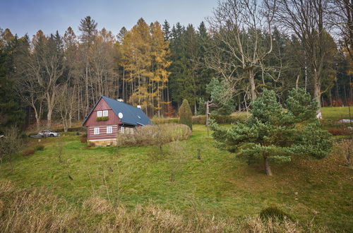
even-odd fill
[{"label": "strip of tall dried tan grass along the bottom foreground", "polygon": [[0,181],[0,232],[306,232],[298,222],[260,217],[216,219],[183,216],[156,205],[128,210],[100,196],[73,206],[44,190],[17,191]]}]

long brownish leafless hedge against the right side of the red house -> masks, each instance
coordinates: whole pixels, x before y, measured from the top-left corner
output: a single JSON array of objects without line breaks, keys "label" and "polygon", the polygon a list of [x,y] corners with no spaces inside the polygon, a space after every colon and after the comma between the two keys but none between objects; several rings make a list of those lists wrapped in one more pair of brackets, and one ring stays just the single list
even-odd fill
[{"label": "long brownish leafless hedge against the right side of the red house", "polygon": [[133,134],[119,133],[119,145],[161,145],[172,141],[186,140],[191,130],[184,124],[161,124],[140,126]]}]

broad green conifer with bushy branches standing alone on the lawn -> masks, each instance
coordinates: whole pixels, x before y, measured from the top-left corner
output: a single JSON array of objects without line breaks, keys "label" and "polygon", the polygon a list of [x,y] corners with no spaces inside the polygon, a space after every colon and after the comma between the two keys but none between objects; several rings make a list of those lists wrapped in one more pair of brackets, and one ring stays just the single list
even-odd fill
[{"label": "broad green conifer with bushy branches standing alone on the lawn", "polygon": [[245,123],[232,124],[230,129],[214,121],[216,145],[246,155],[249,161],[262,157],[265,172],[272,175],[270,161],[289,162],[292,156],[321,159],[330,153],[330,134],[320,128],[316,119],[318,104],[303,89],[289,91],[285,104],[277,102],[273,90],[264,90],[251,104],[252,116]]}]

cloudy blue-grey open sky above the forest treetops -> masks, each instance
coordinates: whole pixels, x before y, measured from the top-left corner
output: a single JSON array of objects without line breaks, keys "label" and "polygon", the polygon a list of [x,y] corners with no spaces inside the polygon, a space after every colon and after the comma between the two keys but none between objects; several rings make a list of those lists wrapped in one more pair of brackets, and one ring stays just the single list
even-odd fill
[{"label": "cloudy blue-grey open sky above the forest treetops", "polygon": [[217,0],[0,0],[0,28],[31,37],[40,29],[46,35],[56,30],[62,35],[71,26],[78,34],[85,16],[114,35],[123,26],[130,29],[141,17],[148,24],[167,20],[170,25],[192,23],[197,28],[216,6]]}]

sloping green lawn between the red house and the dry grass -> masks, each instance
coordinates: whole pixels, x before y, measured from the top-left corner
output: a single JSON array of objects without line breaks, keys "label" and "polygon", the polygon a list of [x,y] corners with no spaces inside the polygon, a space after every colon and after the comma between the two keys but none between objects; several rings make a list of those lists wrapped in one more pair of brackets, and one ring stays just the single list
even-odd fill
[{"label": "sloping green lawn between the red house and the dry grass", "polygon": [[193,125],[189,140],[164,145],[164,155],[155,146],[122,147],[117,153],[116,148],[87,148],[80,136],[44,138],[41,144],[44,150],[13,160],[13,173],[4,162],[0,179],[22,189],[44,187],[75,205],[98,195],[128,208],[153,203],[185,215],[196,209],[219,217],[278,206],[303,224],[313,220],[337,231],[353,229],[353,170],[342,166],[338,149],[324,160],[273,164],[274,176],[266,177],[261,163],[248,166],[215,148],[202,125]]}]

